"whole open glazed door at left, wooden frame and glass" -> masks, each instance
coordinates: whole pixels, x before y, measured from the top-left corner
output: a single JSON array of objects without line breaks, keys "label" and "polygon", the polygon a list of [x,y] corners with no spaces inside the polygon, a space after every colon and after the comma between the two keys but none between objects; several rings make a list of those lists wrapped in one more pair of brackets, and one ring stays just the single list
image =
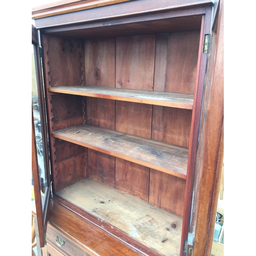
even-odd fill
[{"label": "whole open glazed door at left, wooden frame and glass", "polygon": [[47,212],[49,208],[50,168],[45,114],[42,90],[41,59],[37,30],[32,25],[32,184],[40,247],[45,246]]}]

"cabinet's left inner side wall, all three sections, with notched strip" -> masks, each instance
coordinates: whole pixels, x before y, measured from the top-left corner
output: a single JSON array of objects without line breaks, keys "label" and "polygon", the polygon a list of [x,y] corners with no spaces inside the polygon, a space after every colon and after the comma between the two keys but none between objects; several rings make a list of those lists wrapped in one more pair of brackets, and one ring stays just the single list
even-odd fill
[{"label": "cabinet's left inner side wall, all three sections, with notched strip", "polygon": [[[43,36],[46,87],[72,86],[83,83],[82,40]],[[83,98],[50,94],[46,90],[49,132],[84,122]],[[83,147],[50,137],[53,191],[69,186],[85,177]],[[70,156],[69,156],[70,154]]]}]

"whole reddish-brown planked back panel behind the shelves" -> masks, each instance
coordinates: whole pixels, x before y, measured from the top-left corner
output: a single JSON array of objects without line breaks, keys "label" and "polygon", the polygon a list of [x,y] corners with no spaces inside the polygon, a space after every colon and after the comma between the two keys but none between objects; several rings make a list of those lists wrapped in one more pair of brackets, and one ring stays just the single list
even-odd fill
[{"label": "whole reddish-brown planked back panel behind the shelves", "polygon": [[[84,40],[84,62],[79,67],[84,76],[80,82],[91,86],[193,94],[199,35],[199,31],[187,31]],[[66,79],[70,78],[69,72]],[[57,84],[54,79],[52,82]],[[66,82],[66,85],[72,84]],[[72,100],[68,98],[74,96],[65,97],[70,104]],[[81,104],[83,102],[84,109],[81,108],[79,114],[82,118],[78,122],[189,145],[191,110],[91,97],[81,97]],[[80,104],[79,100],[71,103],[71,107],[75,108],[76,104]],[[62,121],[54,116],[55,127],[61,129]],[[65,161],[63,158],[62,162]],[[89,177],[183,215],[185,180],[93,150],[88,150],[87,167]]]}]

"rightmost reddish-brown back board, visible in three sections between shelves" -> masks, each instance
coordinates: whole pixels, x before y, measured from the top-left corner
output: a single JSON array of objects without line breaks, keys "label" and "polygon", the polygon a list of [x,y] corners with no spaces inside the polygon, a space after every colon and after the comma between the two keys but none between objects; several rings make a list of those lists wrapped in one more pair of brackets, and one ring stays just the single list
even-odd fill
[{"label": "rightmost reddish-brown back board, visible in three sections between shelves", "polygon": [[[154,91],[194,94],[200,31],[157,34]],[[192,111],[153,106],[152,139],[189,146]],[[151,170],[149,202],[183,216],[186,183]]]}]

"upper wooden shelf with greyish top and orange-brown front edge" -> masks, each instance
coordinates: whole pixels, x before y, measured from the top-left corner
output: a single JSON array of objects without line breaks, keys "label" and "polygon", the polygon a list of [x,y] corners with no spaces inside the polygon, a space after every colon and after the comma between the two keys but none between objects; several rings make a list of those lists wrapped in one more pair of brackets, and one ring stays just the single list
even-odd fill
[{"label": "upper wooden shelf with greyish top and orange-brown front edge", "polygon": [[65,86],[51,87],[52,93],[65,93],[72,95],[89,96],[113,100],[138,102],[160,106],[170,106],[180,109],[193,109],[193,94],[153,92],[142,90],[121,89],[100,86]]}]

